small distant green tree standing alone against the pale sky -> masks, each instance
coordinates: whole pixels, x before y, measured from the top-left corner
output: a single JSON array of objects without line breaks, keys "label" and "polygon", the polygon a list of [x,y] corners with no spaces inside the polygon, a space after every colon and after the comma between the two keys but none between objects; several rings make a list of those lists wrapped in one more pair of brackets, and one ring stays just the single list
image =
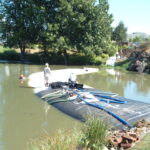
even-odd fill
[{"label": "small distant green tree standing alone against the pale sky", "polygon": [[113,30],[112,40],[116,42],[126,42],[127,40],[127,28],[123,22],[120,22],[118,26]]}]

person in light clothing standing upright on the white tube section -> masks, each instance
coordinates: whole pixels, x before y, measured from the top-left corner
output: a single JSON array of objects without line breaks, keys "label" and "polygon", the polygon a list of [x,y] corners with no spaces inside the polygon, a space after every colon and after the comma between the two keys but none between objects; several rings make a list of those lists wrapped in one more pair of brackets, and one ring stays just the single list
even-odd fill
[{"label": "person in light clothing standing upright on the white tube section", "polygon": [[50,76],[51,76],[51,69],[49,68],[49,64],[46,63],[44,68],[44,79],[45,79],[45,86],[47,87],[49,86]]}]

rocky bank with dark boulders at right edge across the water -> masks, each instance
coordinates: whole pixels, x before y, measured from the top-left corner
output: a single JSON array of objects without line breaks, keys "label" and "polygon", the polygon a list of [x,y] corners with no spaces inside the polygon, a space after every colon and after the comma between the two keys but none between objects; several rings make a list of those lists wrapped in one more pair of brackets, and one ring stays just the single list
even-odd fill
[{"label": "rocky bank with dark boulders at right edge across the water", "polygon": [[129,71],[150,74],[150,43],[144,43],[136,49],[124,50],[125,60],[118,60],[115,66]]}]

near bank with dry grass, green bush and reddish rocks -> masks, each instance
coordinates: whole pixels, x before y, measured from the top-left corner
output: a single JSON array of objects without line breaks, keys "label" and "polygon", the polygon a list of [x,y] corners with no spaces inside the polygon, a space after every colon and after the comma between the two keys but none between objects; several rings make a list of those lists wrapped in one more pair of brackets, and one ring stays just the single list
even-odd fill
[{"label": "near bank with dry grass, green bush and reddish rocks", "polygon": [[59,130],[32,140],[28,150],[149,150],[149,132],[150,126],[145,125],[114,131],[102,120],[89,117],[80,129]]}]

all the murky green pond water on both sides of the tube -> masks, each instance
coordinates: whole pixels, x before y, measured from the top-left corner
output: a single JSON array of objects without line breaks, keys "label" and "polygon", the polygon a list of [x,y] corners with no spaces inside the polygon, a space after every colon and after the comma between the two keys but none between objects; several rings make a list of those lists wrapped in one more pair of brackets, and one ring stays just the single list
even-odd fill
[{"label": "all the murky green pond water on both sides of the tube", "polygon": [[[51,69],[67,68],[51,66]],[[70,67],[69,67],[70,68]],[[0,64],[0,150],[24,150],[30,139],[45,132],[71,129],[80,122],[40,100],[20,74],[29,76],[43,70],[43,66]],[[150,103],[150,75],[134,72],[100,70],[78,77],[80,83],[118,93],[130,99]]]}]

